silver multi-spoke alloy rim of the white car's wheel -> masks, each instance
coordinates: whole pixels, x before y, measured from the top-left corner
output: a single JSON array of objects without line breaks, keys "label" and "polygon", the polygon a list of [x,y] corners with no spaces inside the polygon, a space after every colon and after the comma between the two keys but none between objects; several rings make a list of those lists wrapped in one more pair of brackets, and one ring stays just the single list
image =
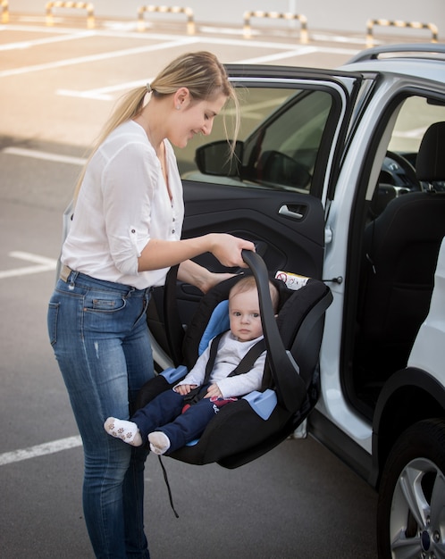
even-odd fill
[{"label": "silver multi-spoke alloy rim of the white car's wheel", "polygon": [[445,559],[445,477],[435,463],[412,460],[400,472],[390,511],[394,559]]}]

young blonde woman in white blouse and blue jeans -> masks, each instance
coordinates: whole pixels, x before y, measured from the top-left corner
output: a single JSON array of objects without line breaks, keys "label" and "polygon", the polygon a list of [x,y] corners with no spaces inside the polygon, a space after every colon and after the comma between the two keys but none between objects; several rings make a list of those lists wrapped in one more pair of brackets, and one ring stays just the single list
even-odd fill
[{"label": "young blonde woman in white blouse and blue jeans", "polygon": [[179,278],[206,292],[225,274],[190,258],[211,252],[223,265],[244,266],[241,250],[254,250],[226,234],[181,240],[184,206],[172,145],[210,134],[229,98],[236,103],[213,54],[180,56],[151,86],[124,98],[76,193],[48,332],[83,441],[84,513],[100,558],[149,557],[146,452],[109,437],[103,424],[110,416],[128,418],[139,388],[154,374],[146,321],[151,288],[181,263]]}]

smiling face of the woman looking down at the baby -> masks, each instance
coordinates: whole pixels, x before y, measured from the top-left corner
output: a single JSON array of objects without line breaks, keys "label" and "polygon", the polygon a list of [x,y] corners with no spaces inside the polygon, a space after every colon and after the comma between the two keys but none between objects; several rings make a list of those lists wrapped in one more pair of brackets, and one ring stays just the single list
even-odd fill
[{"label": "smiling face of the woman looking down at the baby", "polygon": [[178,102],[169,135],[173,146],[185,147],[196,134],[210,134],[214,117],[221,112],[226,101],[227,97],[220,94],[206,101],[192,101],[188,96]]}]

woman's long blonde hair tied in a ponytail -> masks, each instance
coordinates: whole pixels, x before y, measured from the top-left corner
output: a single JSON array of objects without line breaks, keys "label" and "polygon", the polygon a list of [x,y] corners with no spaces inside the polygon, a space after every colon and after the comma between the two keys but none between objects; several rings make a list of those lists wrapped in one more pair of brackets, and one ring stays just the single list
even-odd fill
[{"label": "woman's long blonde hair tied in a ponytail", "polygon": [[[221,94],[231,101],[235,108],[230,151],[230,157],[232,157],[235,153],[236,138],[238,138],[239,133],[238,97],[234,88],[231,86],[231,82],[229,81],[223,64],[218,61],[214,54],[200,51],[197,53],[181,54],[169,63],[164,70],[155,77],[151,84],[140,88],[134,88],[123,96],[121,102],[113,111],[110,120],[105,124],[104,129],[97,138],[92,152],[88,157],[88,163],[91,157],[97,152],[98,147],[114,129],[123,122],[130,121],[139,116],[144,108],[144,101],[148,92],[151,91],[153,96],[161,98],[174,94],[179,88],[188,88],[194,102],[213,99]],[[224,131],[226,138],[228,138],[225,117]],[[74,195],[75,198],[79,194],[84,175],[85,168],[78,180]]]}]

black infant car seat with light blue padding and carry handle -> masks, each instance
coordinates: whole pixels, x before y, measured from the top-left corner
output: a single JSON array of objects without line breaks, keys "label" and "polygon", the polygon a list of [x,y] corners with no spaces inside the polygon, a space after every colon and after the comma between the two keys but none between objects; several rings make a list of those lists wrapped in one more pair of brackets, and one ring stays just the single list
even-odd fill
[{"label": "black infant car seat with light blue padding and carry handle", "polygon": [[[223,406],[197,442],[170,455],[181,462],[199,465],[216,462],[226,468],[248,463],[287,438],[306,418],[319,396],[318,355],[324,313],[332,303],[331,290],[320,280],[306,279],[298,290],[288,288],[282,280],[272,280],[280,294],[275,317],[269,272],[263,259],[250,251],[243,251],[243,258],[258,288],[267,349],[263,387]],[[196,363],[203,337],[212,338],[218,330],[228,329],[228,322],[223,324],[227,310],[223,315],[221,311],[218,314],[218,305],[228,298],[238,280],[239,277],[234,277],[223,281],[202,297],[184,334],[185,364],[149,380],[139,391],[137,409],[185,376]],[[166,292],[169,291],[172,289],[166,286]]]}]

